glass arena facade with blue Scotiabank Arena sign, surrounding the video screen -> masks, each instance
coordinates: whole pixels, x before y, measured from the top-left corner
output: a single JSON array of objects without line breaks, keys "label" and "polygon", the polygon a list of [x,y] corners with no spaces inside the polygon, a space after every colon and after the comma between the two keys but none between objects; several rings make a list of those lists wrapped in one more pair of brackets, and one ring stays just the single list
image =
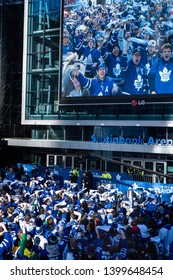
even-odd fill
[{"label": "glass arena facade with blue Scotiabank Arena sign, surrounding the video screen", "polygon": [[[136,1],[135,9],[142,3],[146,12],[150,2]],[[90,9],[104,7],[107,14],[106,8],[115,12],[121,4],[98,2]],[[131,1],[125,4],[133,9]],[[21,126],[30,133],[4,137],[8,148],[22,161],[47,166],[124,173],[132,165],[171,175],[173,95],[63,95],[63,75],[70,67],[63,58],[63,32],[76,19],[69,18],[72,11],[84,8],[80,1],[24,1]]]}]

